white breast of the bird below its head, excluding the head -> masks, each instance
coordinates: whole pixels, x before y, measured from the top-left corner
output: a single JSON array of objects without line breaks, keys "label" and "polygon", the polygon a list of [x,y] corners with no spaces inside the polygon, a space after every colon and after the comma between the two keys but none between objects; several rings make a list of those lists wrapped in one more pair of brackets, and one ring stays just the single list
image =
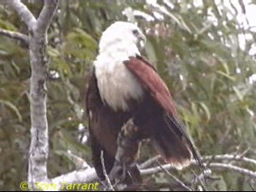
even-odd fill
[{"label": "white breast of the bird below its head, excluding the head", "polygon": [[114,55],[99,55],[94,62],[102,101],[115,111],[129,110],[127,101],[130,99],[139,101],[143,96],[140,82],[126,68],[124,60],[128,60],[126,55],[115,52]]}]

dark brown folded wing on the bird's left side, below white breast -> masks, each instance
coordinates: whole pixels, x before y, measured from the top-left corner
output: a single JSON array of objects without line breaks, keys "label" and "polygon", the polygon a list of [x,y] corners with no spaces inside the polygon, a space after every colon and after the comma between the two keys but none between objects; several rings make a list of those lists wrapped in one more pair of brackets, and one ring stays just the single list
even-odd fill
[{"label": "dark brown folded wing on the bird's left side, below white breast", "polygon": [[[102,152],[104,154],[103,157],[104,157],[107,173],[110,172],[110,170],[112,169],[112,166],[114,165],[114,156],[111,156],[106,151],[106,148],[103,147],[104,144],[106,146],[113,146],[113,144],[108,145],[108,143],[104,138],[109,137],[109,139],[111,140],[115,137],[115,135],[111,136],[105,133],[104,128],[108,126],[108,123],[102,121],[102,115],[101,115],[103,112],[102,110],[104,110],[104,107],[103,107],[103,103],[100,98],[100,95],[98,93],[97,79],[95,78],[93,73],[90,76],[89,85],[86,89],[86,114],[89,122],[90,147],[91,147],[92,160],[93,160],[94,168],[100,180],[105,179],[105,175],[103,174],[103,171],[102,171],[102,159],[101,159]],[[103,136],[104,134],[106,137]]]}]

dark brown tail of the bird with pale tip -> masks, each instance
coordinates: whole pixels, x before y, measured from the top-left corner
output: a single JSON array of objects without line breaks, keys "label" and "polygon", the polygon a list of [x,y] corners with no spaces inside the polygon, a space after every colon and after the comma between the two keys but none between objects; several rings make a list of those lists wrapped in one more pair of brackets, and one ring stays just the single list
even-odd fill
[{"label": "dark brown tail of the bird with pale tip", "polygon": [[167,162],[182,169],[182,167],[188,166],[191,159],[194,158],[201,165],[198,151],[176,118],[165,114],[156,122],[153,144]]}]

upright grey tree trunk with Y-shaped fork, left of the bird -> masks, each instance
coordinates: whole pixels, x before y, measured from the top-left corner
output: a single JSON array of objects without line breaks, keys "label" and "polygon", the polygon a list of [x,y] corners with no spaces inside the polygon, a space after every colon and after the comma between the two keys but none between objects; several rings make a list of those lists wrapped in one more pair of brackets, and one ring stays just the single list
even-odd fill
[{"label": "upright grey tree trunk with Y-shaped fork, left of the bird", "polygon": [[[30,120],[31,142],[28,182],[35,189],[36,182],[47,181],[48,122],[46,118],[46,78],[48,57],[46,32],[57,9],[58,0],[45,0],[38,20],[20,0],[6,1],[22,18],[29,29],[30,46]],[[17,36],[17,35],[16,35]]]}]

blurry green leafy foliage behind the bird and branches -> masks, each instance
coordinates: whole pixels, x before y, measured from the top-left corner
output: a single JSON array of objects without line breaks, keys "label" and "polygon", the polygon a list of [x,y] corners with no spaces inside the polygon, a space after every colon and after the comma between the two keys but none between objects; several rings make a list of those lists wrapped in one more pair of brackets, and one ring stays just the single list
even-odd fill
[{"label": "blurry green leafy foliage behind the bird and branches", "polygon": [[[41,0],[23,2],[35,15],[42,9]],[[247,7],[256,7],[256,2],[197,2],[201,1],[60,1],[48,34],[50,178],[75,169],[69,151],[90,163],[84,114],[87,77],[102,30],[114,21],[126,21],[123,10],[134,10],[147,37],[143,55],[170,88],[200,153],[248,150],[246,156],[256,158],[256,34],[253,26],[238,19],[238,14],[246,17]],[[0,27],[27,34],[26,26],[4,3]],[[0,42],[0,189],[19,190],[19,183],[26,180],[30,144],[29,53],[22,42],[2,35]],[[139,162],[154,155],[150,146],[144,148]],[[188,170],[174,174],[193,179]],[[214,176],[211,190],[253,189],[250,178],[240,174],[220,170]],[[181,190],[164,173],[145,181],[144,190]]]}]

